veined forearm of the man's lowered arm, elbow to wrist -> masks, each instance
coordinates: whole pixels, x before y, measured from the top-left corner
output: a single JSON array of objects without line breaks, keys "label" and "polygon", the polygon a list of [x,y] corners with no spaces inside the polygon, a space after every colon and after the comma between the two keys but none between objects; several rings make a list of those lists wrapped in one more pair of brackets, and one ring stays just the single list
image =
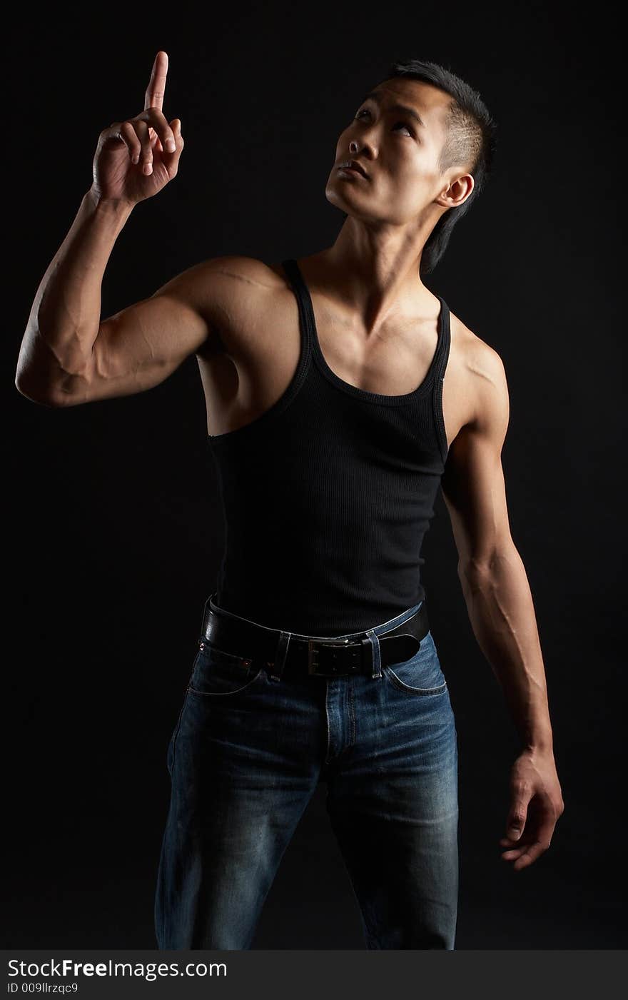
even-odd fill
[{"label": "veined forearm of the man's lowered arm, elbow to wrist", "polygon": [[474,635],[526,747],[552,750],[543,656],[525,567],[514,544],[458,569]]}]

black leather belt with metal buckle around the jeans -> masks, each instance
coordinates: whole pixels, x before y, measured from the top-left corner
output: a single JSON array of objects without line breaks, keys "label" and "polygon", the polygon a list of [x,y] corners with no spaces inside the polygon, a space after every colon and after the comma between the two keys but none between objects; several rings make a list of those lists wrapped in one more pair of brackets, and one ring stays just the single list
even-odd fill
[{"label": "black leather belt with metal buckle around the jeans", "polygon": [[[378,635],[382,666],[409,660],[418,652],[428,632],[427,608],[423,601],[419,610],[405,622]],[[224,652],[251,661],[247,666],[265,664],[286,677],[373,673],[373,644],[366,631],[353,639],[286,633],[216,612],[209,607],[209,601],[205,604],[200,641],[211,642]],[[282,655],[278,655],[278,651]]]}]

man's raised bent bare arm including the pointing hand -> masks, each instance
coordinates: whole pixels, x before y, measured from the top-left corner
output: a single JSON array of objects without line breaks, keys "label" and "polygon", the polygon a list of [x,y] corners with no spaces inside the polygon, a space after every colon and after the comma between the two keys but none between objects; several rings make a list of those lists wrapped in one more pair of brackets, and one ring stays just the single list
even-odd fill
[{"label": "man's raised bent bare arm including the pointing hand", "polygon": [[[48,406],[148,389],[210,335],[193,293],[197,270],[101,321],[102,279],[118,234],[138,202],[176,176],[181,122],[162,111],[168,57],[158,52],[144,110],[101,132],[93,183],[37,289],[15,384]],[[197,267],[203,267],[198,265]]]}]

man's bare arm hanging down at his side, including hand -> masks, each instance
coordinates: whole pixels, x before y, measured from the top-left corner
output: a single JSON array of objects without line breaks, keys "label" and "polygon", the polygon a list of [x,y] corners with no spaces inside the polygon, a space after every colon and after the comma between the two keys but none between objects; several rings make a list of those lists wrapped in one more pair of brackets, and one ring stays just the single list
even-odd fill
[{"label": "man's bare arm hanging down at his side, including hand", "polygon": [[502,857],[518,871],[549,847],[564,805],[532,595],[508,520],[501,463],[509,420],[506,375],[488,344],[478,338],[474,351],[475,415],[452,442],[442,492],[471,626],[521,737],[500,841],[507,848]]}]

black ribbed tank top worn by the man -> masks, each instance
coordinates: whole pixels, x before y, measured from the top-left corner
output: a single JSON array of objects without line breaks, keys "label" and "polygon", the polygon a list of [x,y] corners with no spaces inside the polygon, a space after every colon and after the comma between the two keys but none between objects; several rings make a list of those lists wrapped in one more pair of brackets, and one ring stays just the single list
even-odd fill
[{"label": "black ribbed tank top worn by the man", "polygon": [[282,265],[299,307],[292,381],[252,422],[208,434],[225,522],[216,602],[269,628],[341,635],[425,598],[421,544],[447,458],[449,308],[439,295],[421,385],[368,392],[327,365],[299,266]]}]

